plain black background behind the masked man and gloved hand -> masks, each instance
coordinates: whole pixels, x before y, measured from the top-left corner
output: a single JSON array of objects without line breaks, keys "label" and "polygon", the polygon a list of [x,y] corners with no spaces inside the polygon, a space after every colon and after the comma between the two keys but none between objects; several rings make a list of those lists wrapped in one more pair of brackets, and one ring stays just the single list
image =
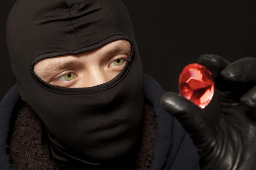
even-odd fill
[{"label": "plain black background behind the masked man and gloved hand", "polygon": [[[230,62],[256,57],[256,10],[250,0],[123,0],[131,15],[143,70],[166,91],[177,92],[183,67],[201,54]],[[15,1],[1,9],[0,99],[15,84],[6,48],[6,18]],[[216,96],[216,95],[215,95]],[[217,105],[216,105],[217,104]],[[209,106],[215,111],[216,99]]]}]

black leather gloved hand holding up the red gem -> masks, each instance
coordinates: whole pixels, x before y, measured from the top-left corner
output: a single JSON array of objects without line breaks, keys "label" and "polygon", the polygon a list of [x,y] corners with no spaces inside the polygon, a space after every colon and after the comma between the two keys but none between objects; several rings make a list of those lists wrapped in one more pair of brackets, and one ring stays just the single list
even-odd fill
[{"label": "black leather gloved hand holding up the red gem", "polygon": [[256,170],[256,58],[229,63],[207,54],[198,63],[215,78],[221,112],[207,113],[171,92],[162,96],[163,108],[190,134],[202,170]]}]

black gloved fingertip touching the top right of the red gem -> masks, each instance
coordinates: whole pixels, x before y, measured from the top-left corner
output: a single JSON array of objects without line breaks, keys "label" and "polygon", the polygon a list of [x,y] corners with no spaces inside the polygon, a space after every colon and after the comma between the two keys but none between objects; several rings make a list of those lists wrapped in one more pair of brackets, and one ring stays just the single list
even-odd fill
[{"label": "black gloved fingertip touching the top right of the red gem", "polygon": [[204,54],[198,58],[198,64],[204,65],[212,73],[212,76],[216,78],[227,67],[229,62],[218,55]]}]

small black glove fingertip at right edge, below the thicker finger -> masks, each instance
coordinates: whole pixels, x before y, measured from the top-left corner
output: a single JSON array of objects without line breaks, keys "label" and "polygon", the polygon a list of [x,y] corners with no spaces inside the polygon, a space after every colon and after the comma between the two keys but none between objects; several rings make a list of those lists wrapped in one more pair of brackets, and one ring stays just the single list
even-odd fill
[{"label": "small black glove fingertip at right edge, below the thicker finger", "polygon": [[256,86],[241,96],[240,101],[250,108],[256,109]]}]

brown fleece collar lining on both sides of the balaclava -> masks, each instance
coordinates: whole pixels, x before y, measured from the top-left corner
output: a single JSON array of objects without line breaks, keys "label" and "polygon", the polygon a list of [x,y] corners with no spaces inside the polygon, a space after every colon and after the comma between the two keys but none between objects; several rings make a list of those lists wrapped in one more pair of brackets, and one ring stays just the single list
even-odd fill
[{"label": "brown fleece collar lining on both sides of the balaclava", "polygon": [[[148,102],[149,103],[149,102]],[[143,109],[143,131],[135,170],[149,170],[156,140],[153,107]],[[19,110],[9,144],[11,161],[17,170],[55,170],[47,147],[47,132],[36,113],[25,104]]]}]

